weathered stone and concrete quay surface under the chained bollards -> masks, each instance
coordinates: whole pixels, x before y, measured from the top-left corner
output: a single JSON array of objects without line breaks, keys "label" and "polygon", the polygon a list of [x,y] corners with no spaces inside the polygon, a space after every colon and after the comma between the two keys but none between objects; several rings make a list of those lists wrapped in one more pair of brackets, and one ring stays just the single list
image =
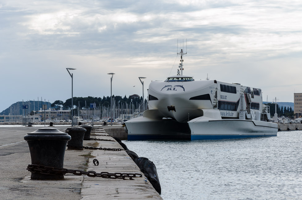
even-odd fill
[{"label": "weathered stone and concrete quay surface under the chained bollards", "polygon": [[[0,127],[0,199],[162,199],[125,151],[66,150],[64,168],[109,173],[140,173],[134,180],[64,175],[61,181],[31,180],[31,156],[24,135],[39,127]],[[67,127],[55,127],[64,132]],[[99,133],[95,133],[99,134]],[[103,133],[102,133],[103,134]],[[106,136],[93,136],[110,139]],[[85,140],[84,146],[122,148],[117,142]],[[92,160],[99,161],[94,166]]]}]

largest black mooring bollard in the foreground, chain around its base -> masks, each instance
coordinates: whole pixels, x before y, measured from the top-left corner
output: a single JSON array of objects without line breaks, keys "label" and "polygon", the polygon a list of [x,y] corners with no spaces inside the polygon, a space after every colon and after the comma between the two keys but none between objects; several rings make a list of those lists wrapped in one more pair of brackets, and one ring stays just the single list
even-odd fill
[{"label": "largest black mooring bollard in the foreground, chain around its base", "polygon": [[[49,167],[63,168],[64,154],[70,135],[55,128],[40,128],[34,132],[27,133],[24,140],[27,141],[31,152],[31,164]],[[31,173],[31,179],[35,180],[57,180],[63,179],[64,175]]]}]

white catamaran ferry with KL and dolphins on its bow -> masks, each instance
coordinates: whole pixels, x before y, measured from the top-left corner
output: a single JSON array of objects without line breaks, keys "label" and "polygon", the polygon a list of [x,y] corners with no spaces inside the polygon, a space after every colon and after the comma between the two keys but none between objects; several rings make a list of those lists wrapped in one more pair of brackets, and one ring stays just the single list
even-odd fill
[{"label": "white catamaran ferry with KL and dolphins on its bow", "polygon": [[278,125],[268,122],[269,106],[262,92],[238,83],[194,80],[178,75],[152,81],[148,90],[149,110],[125,122],[128,140],[230,139],[276,136]]}]

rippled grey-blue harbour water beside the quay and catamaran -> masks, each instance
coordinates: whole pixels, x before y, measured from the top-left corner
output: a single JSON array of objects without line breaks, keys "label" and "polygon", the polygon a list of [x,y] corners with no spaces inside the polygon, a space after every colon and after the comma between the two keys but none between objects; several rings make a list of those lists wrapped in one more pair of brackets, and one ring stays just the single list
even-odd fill
[{"label": "rippled grey-blue harbour water beside the quay and catamaran", "polygon": [[231,140],[123,142],[153,161],[164,200],[302,199],[302,131]]}]

